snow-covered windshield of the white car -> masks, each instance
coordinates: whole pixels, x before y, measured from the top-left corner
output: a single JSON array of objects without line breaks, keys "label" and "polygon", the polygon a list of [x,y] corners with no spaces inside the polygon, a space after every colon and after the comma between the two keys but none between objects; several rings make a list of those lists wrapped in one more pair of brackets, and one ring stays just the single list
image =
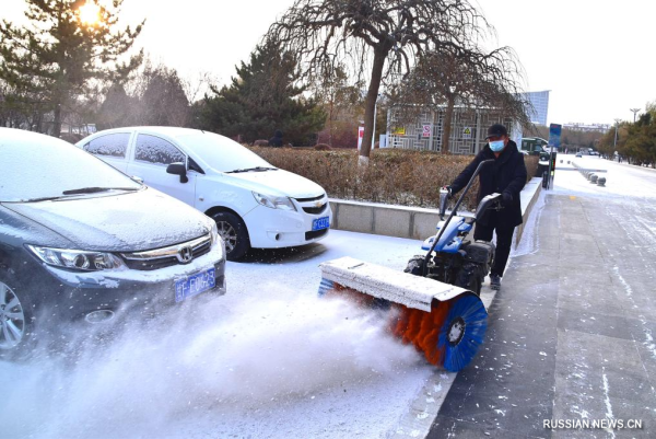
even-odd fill
[{"label": "snow-covered windshield of the white car", "polygon": [[198,131],[179,136],[177,139],[214,171],[258,172],[276,169],[236,141],[213,132]]}]

